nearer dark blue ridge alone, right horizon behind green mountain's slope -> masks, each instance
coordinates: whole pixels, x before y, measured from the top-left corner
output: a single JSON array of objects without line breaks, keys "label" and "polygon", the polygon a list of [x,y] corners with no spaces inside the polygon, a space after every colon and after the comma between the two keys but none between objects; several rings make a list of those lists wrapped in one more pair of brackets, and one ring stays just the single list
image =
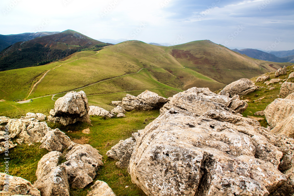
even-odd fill
[{"label": "nearer dark blue ridge alone, right horizon behind green mountain's slope", "polygon": [[263,52],[257,49],[245,48],[241,50],[233,49],[233,51],[238,52],[240,54],[245,54],[251,58],[256,58],[263,61],[272,61],[272,62],[278,62],[278,63],[290,62],[288,58],[280,58],[273,54]]}]

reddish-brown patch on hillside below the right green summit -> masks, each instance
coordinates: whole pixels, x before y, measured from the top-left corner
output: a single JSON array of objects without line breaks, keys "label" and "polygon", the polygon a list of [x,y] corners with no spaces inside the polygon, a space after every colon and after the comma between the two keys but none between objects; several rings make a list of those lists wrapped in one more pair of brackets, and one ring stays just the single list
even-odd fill
[{"label": "reddish-brown patch on hillside below the right green summit", "polygon": [[[208,55],[207,52],[204,52],[205,55]],[[175,58],[185,58],[188,59],[189,61],[192,61],[195,65],[198,64],[211,64],[209,59],[203,57],[203,58],[198,58],[194,56],[191,51],[189,50],[172,50],[171,55]]]}]

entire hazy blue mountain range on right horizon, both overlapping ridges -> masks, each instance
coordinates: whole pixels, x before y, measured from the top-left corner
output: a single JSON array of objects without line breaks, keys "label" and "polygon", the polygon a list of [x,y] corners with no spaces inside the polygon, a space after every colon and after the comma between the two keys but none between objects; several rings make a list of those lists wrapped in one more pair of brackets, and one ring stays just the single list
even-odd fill
[{"label": "entire hazy blue mountain range on right horizon, both overlapping ridges", "polygon": [[274,55],[274,53],[280,54],[280,55],[285,55],[287,53],[291,54],[291,51],[276,51],[276,52],[267,53],[261,50],[250,49],[250,48],[245,48],[241,50],[233,49],[233,51],[238,52],[240,54],[245,54],[246,56],[249,56],[251,58],[256,58],[263,61],[271,61],[271,62],[278,62],[278,63],[284,63],[284,62],[294,63],[294,55],[286,56],[286,57],[278,57]]}]

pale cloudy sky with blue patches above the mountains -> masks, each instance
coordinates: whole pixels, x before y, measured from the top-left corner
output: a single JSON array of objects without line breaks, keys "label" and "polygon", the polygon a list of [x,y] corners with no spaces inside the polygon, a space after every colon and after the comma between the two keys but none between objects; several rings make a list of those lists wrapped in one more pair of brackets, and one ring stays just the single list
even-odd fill
[{"label": "pale cloudy sky with blue patches above the mountains", "polygon": [[94,39],[294,49],[293,0],[1,0],[0,34],[65,31]]}]

